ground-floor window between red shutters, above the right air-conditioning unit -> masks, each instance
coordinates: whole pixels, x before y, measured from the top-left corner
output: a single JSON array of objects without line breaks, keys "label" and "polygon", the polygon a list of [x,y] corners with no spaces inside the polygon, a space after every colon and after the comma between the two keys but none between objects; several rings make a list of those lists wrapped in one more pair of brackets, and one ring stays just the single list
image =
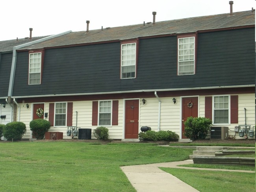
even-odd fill
[{"label": "ground-floor window between red shutters, above the right air-conditioning unit", "polygon": [[230,121],[229,96],[213,96],[213,124],[228,124]]}]

